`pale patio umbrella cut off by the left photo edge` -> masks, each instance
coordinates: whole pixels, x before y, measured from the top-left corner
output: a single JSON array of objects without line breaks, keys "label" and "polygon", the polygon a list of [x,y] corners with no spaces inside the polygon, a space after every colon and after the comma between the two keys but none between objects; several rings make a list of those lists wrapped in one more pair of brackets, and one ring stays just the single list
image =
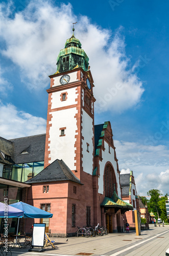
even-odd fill
[{"label": "pale patio umbrella cut off by the left photo edge", "polygon": [[[5,216],[4,216],[4,213],[5,213]],[[3,203],[0,202],[0,218],[4,218],[4,217],[22,218],[23,217],[23,210],[16,209],[15,207],[12,207],[11,204],[6,205],[6,204],[3,204]]]}]

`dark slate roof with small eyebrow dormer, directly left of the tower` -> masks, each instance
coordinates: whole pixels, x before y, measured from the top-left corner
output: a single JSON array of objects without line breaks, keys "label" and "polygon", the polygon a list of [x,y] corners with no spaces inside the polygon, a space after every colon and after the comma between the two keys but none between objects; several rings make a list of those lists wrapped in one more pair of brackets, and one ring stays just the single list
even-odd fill
[{"label": "dark slate roof with small eyebrow dormer, directly left of the tower", "polygon": [[[29,163],[44,161],[45,134],[9,140],[13,143],[14,162]],[[25,154],[21,154],[22,152]]]}]

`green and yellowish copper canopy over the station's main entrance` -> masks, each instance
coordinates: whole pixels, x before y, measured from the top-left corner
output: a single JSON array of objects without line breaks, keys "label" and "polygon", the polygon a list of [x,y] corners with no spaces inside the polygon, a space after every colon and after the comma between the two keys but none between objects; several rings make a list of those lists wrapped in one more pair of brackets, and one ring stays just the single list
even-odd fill
[{"label": "green and yellowish copper canopy over the station's main entrance", "polygon": [[121,209],[122,214],[124,214],[125,211],[133,210],[133,205],[123,201],[120,199],[114,189],[113,195],[111,198],[105,197],[103,202],[101,203],[101,207],[104,207],[104,211],[106,212],[110,208],[114,208],[115,213]]}]

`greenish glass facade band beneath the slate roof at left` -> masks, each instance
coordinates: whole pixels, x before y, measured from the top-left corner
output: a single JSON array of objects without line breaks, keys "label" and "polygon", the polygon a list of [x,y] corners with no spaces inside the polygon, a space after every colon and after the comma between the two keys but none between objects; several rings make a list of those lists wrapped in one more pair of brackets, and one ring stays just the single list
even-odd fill
[{"label": "greenish glass facade band beneath the slate roof at left", "polygon": [[44,161],[6,165],[3,170],[3,178],[25,182],[39,174],[43,167]]}]

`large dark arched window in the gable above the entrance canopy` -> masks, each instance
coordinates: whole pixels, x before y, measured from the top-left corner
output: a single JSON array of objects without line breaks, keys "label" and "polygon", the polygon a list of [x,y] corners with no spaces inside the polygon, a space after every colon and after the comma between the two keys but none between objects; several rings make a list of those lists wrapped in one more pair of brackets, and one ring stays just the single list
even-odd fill
[{"label": "large dark arched window in the gable above the entrance canopy", "polygon": [[116,178],[115,178],[114,170],[110,164],[106,165],[104,180],[105,180],[105,196],[111,198],[114,191],[114,184],[115,184],[115,191],[116,191]]}]

